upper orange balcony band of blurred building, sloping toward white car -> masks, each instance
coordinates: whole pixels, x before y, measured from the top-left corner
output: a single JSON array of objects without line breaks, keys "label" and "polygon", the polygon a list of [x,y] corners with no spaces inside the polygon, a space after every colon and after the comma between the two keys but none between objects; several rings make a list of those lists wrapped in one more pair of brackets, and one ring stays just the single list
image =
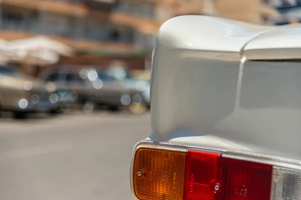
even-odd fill
[{"label": "upper orange balcony band of blurred building, sloping toward white car", "polygon": [[[76,18],[97,18],[122,26],[137,28],[142,32],[157,33],[160,24],[154,19],[154,10],[147,8],[123,9],[115,0],[2,0],[4,6],[32,10],[40,13],[59,14]],[[95,6],[94,6],[95,5]],[[97,5],[97,6],[96,6]],[[111,8],[115,6],[113,10]],[[93,7],[93,8],[92,8]],[[20,10],[20,12],[23,12]],[[136,11],[135,11],[136,10]],[[141,12],[142,10],[142,12]],[[139,14],[146,13],[146,16]],[[148,13],[148,14],[147,14]],[[143,27],[145,26],[145,27]]]}]

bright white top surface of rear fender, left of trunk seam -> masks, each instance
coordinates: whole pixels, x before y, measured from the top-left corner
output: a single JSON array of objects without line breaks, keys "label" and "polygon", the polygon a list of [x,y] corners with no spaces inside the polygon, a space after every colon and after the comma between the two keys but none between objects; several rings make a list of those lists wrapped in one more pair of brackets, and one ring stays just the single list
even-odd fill
[{"label": "bright white top surface of rear fender, left of trunk seam", "polygon": [[271,28],[213,16],[178,16],[162,25],[158,37],[161,45],[174,49],[239,52]]}]

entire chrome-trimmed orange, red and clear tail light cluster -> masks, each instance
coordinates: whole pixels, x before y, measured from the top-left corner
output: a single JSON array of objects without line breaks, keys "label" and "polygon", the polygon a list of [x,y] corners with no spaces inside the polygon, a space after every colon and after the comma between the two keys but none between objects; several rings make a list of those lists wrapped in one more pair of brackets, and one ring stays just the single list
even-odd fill
[{"label": "entire chrome-trimmed orange, red and clear tail light cluster", "polygon": [[301,199],[301,166],[272,156],[138,144],[131,187],[139,200]]}]

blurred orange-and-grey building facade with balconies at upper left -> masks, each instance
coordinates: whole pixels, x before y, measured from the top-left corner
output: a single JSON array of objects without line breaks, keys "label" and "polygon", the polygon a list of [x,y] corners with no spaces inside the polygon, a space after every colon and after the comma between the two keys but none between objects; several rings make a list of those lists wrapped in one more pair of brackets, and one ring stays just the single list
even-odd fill
[{"label": "blurred orange-and-grey building facade with balconies at upper left", "polygon": [[[79,49],[134,49],[140,24],[149,24],[152,10],[138,9],[144,17],[123,12],[113,0],[2,0],[0,37],[18,39],[52,35]],[[144,42],[145,43],[145,42]]]}]

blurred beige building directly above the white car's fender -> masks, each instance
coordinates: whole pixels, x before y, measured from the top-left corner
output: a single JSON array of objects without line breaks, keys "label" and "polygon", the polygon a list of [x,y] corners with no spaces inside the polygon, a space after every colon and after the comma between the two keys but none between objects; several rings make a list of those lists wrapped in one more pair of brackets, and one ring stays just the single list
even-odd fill
[{"label": "blurred beige building directly above the white car's fender", "polygon": [[[159,18],[184,14],[220,16],[255,24],[277,17],[277,10],[262,0],[158,0]],[[163,17],[165,16],[165,17]]]}]

